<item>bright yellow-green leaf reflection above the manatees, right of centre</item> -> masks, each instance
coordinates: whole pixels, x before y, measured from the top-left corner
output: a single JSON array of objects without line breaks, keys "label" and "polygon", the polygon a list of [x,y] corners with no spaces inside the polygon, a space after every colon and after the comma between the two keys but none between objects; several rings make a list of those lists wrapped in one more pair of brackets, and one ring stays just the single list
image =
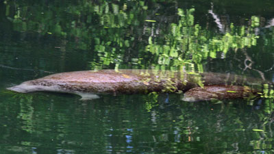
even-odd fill
[{"label": "bright yellow-green leaf reflection above the manatees, right of centre", "polygon": [[[202,60],[211,57],[216,58],[218,52],[225,58],[229,49],[243,49],[256,45],[258,36],[251,27],[234,27],[230,25],[230,31],[223,35],[212,36],[210,31],[202,29],[199,24],[193,25],[194,9],[179,9],[180,19],[178,23],[171,23],[165,39],[149,37],[146,49],[155,57],[158,64],[178,68],[186,64],[195,64],[200,72]],[[255,18],[255,17],[254,17]],[[257,20],[256,19],[253,20]]]}]

